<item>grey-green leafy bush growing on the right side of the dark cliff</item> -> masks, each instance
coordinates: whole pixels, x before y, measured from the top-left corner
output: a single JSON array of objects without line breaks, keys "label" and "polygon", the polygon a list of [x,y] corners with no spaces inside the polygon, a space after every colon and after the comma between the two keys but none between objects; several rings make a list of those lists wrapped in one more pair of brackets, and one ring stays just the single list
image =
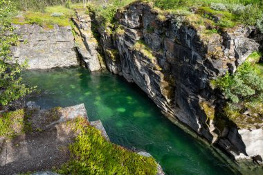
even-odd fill
[{"label": "grey-green leafy bush growing on the right side of the dark cliff", "polygon": [[236,73],[226,73],[224,77],[212,82],[224,92],[227,99],[234,103],[242,101],[261,100],[263,94],[262,77],[255,71],[252,63],[244,62]]}]

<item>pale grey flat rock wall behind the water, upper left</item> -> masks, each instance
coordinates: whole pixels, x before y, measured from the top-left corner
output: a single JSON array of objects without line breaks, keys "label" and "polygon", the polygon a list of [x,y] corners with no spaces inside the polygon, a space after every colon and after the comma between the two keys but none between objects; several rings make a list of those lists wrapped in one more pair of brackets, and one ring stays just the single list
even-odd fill
[{"label": "pale grey flat rock wall behind the water, upper left", "polygon": [[20,44],[11,47],[14,62],[28,62],[28,68],[53,68],[78,65],[71,27],[55,25],[44,30],[37,25],[15,25]]}]

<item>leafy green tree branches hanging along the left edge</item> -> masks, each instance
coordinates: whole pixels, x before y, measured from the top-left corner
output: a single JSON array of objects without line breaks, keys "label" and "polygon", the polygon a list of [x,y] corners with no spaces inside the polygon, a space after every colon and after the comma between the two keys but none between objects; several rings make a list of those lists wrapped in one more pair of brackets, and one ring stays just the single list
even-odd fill
[{"label": "leafy green tree branches hanging along the left edge", "polygon": [[[32,91],[22,83],[21,71],[26,63],[10,64],[10,44],[17,44],[18,37],[10,25],[10,17],[14,8],[10,1],[0,0],[0,106],[6,106]],[[8,33],[8,35],[7,35]]]}]

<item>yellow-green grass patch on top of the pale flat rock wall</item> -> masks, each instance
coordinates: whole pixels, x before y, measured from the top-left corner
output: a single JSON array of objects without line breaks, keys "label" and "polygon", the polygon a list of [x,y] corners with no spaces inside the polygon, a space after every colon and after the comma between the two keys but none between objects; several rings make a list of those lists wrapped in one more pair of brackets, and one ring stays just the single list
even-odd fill
[{"label": "yellow-green grass patch on top of the pale flat rock wall", "polygon": [[[53,12],[60,12],[64,15],[61,17],[53,17]],[[64,6],[49,6],[45,9],[45,12],[24,12],[23,17],[15,17],[12,19],[13,24],[37,24],[44,28],[53,28],[53,25],[58,26],[70,26],[70,18],[73,17],[74,12],[71,9]]]}]

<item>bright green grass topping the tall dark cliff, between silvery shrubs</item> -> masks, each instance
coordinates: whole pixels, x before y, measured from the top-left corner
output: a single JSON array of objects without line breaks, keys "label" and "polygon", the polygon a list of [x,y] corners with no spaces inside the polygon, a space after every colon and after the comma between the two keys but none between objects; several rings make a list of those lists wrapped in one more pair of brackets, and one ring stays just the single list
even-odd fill
[{"label": "bright green grass topping the tall dark cliff, between silvery shrubs", "polygon": [[[152,2],[152,1],[148,1]],[[236,6],[242,4],[244,6],[250,4],[249,10],[244,10],[240,14],[234,14],[230,9],[224,11],[212,10],[210,8],[211,3],[223,3],[225,6]],[[233,28],[237,24],[255,25],[257,19],[260,19],[263,10],[263,2],[260,0],[156,0],[154,6],[165,10],[167,12],[175,12],[179,9],[185,9],[190,12],[190,8],[195,7],[198,9],[198,13],[207,19],[219,17],[216,26],[221,28]]]}]

